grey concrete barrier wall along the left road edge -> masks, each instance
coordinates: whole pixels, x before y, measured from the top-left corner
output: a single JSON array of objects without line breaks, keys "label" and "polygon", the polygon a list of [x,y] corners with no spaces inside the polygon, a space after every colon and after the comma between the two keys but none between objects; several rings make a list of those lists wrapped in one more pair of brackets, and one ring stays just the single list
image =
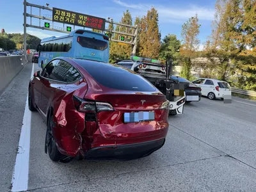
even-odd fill
[{"label": "grey concrete barrier wall along the left road edge", "polygon": [[32,55],[0,57],[0,94],[31,59]]}]

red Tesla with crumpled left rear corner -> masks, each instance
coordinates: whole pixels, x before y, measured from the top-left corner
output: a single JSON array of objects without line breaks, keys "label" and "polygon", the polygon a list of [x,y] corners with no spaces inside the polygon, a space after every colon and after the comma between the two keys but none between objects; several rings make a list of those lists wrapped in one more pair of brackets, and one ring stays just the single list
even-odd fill
[{"label": "red Tesla with crumpled left rear corner", "polygon": [[[168,101],[143,77],[97,61],[55,58],[51,62],[66,62],[80,76],[70,83],[52,80],[46,78],[46,66],[41,74],[36,72],[29,83],[31,105],[47,122],[49,116],[53,116],[52,134],[61,154],[87,159],[134,159],[147,156],[164,145],[168,131],[168,106],[165,108],[164,105]],[[95,70],[98,70],[96,75],[100,79],[93,77]],[[150,91],[113,88],[115,83],[118,86],[125,83],[122,82],[125,77],[104,86],[111,79],[104,76],[112,70],[116,74],[120,72],[120,76],[124,76],[124,73],[132,78],[140,78],[138,81],[148,83]],[[93,106],[91,111],[81,111],[81,108],[87,109],[90,105]],[[105,108],[108,110],[104,111]],[[154,111],[154,120],[124,122],[124,113],[138,111]]]}]

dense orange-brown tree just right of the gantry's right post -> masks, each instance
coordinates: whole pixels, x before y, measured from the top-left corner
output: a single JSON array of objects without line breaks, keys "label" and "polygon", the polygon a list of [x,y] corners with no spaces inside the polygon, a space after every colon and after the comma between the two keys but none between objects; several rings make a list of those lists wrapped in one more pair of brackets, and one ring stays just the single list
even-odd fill
[{"label": "dense orange-brown tree just right of the gantry's right post", "polygon": [[158,13],[155,8],[148,10],[147,16],[140,19],[138,54],[148,58],[158,58],[160,50],[160,35]]}]

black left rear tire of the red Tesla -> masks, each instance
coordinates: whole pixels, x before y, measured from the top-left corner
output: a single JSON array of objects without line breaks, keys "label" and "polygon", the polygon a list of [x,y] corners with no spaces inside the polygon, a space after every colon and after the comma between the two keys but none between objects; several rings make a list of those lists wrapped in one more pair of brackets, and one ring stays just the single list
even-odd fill
[{"label": "black left rear tire of the red Tesla", "polygon": [[60,161],[63,163],[68,163],[68,160],[72,160],[70,157],[65,156],[60,153],[56,145],[54,136],[52,134],[52,128],[54,127],[53,115],[50,112],[49,120],[47,121],[47,131],[45,135],[45,147],[47,147],[48,155],[52,161]]}]

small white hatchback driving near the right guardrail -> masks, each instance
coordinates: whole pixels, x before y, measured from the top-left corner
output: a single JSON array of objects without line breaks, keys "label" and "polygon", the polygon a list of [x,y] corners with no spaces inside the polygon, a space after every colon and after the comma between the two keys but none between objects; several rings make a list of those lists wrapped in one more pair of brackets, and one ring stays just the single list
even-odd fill
[{"label": "small white hatchback driving near the right guardrail", "polygon": [[209,99],[223,99],[224,95],[231,95],[230,86],[225,81],[200,78],[193,81],[193,83],[200,86],[202,95]]}]

